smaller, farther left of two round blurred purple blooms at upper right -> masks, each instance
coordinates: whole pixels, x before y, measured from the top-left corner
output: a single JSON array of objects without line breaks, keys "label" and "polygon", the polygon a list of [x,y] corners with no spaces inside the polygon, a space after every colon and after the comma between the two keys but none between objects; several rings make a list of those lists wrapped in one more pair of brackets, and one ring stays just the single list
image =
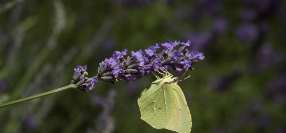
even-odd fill
[{"label": "smaller, farther left of two round blurred purple blooms at upper right", "polygon": [[215,33],[222,34],[228,28],[227,20],[225,18],[222,18],[222,17],[217,18],[217,19],[215,19],[212,27],[213,27],[213,30]]}]

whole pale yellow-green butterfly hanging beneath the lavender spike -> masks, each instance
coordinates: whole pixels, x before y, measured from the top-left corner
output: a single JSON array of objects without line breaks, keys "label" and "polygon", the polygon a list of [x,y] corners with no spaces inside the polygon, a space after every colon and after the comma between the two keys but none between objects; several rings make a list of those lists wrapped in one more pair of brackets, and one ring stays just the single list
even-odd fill
[{"label": "whole pale yellow-green butterfly hanging beneath the lavender spike", "polygon": [[192,118],[186,98],[177,85],[179,78],[172,78],[168,72],[163,75],[163,78],[155,75],[157,80],[138,98],[141,119],[156,129],[190,133]]}]

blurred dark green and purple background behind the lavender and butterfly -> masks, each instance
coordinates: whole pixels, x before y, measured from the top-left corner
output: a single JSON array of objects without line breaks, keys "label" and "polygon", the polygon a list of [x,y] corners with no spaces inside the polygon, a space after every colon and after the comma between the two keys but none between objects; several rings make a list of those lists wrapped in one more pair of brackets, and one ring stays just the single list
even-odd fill
[{"label": "blurred dark green and purple background behind the lavender and butterfly", "polygon": [[[0,103],[89,76],[113,51],[192,41],[205,59],[179,83],[192,133],[285,133],[286,2],[282,0],[1,0]],[[172,72],[174,73],[174,72]],[[174,73],[175,74],[175,73]],[[176,76],[180,74],[175,74]],[[152,75],[100,82],[0,109],[1,133],[171,133],[140,120]]]}]

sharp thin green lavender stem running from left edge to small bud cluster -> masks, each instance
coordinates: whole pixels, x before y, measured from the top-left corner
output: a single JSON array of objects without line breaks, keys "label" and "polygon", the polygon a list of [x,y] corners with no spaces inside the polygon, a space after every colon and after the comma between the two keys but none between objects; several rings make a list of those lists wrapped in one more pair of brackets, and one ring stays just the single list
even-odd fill
[{"label": "sharp thin green lavender stem running from left edge to small bud cluster", "polygon": [[41,94],[37,94],[37,95],[34,95],[34,96],[29,96],[29,97],[26,97],[26,98],[22,98],[22,99],[18,99],[18,100],[15,100],[15,101],[7,102],[7,103],[4,103],[4,104],[0,104],[0,108],[5,107],[5,106],[9,106],[9,105],[12,105],[12,104],[17,104],[17,103],[20,103],[20,102],[32,100],[32,99],[39,98],[39,97],[42,97],[42,96],[47,96],[47,95],[54,94],[54,93],[57,93],[57,92],[61,92],[63,90],[67,90],[67,89],[70,89],[70,88],[76,88],[76,86],[73,85],[73,84],[70,84],[70,85],[64,86],[62,88],[57,88],[55,90],[51,90],[51,91],[44,92],[44,93],[41,93]]}]

